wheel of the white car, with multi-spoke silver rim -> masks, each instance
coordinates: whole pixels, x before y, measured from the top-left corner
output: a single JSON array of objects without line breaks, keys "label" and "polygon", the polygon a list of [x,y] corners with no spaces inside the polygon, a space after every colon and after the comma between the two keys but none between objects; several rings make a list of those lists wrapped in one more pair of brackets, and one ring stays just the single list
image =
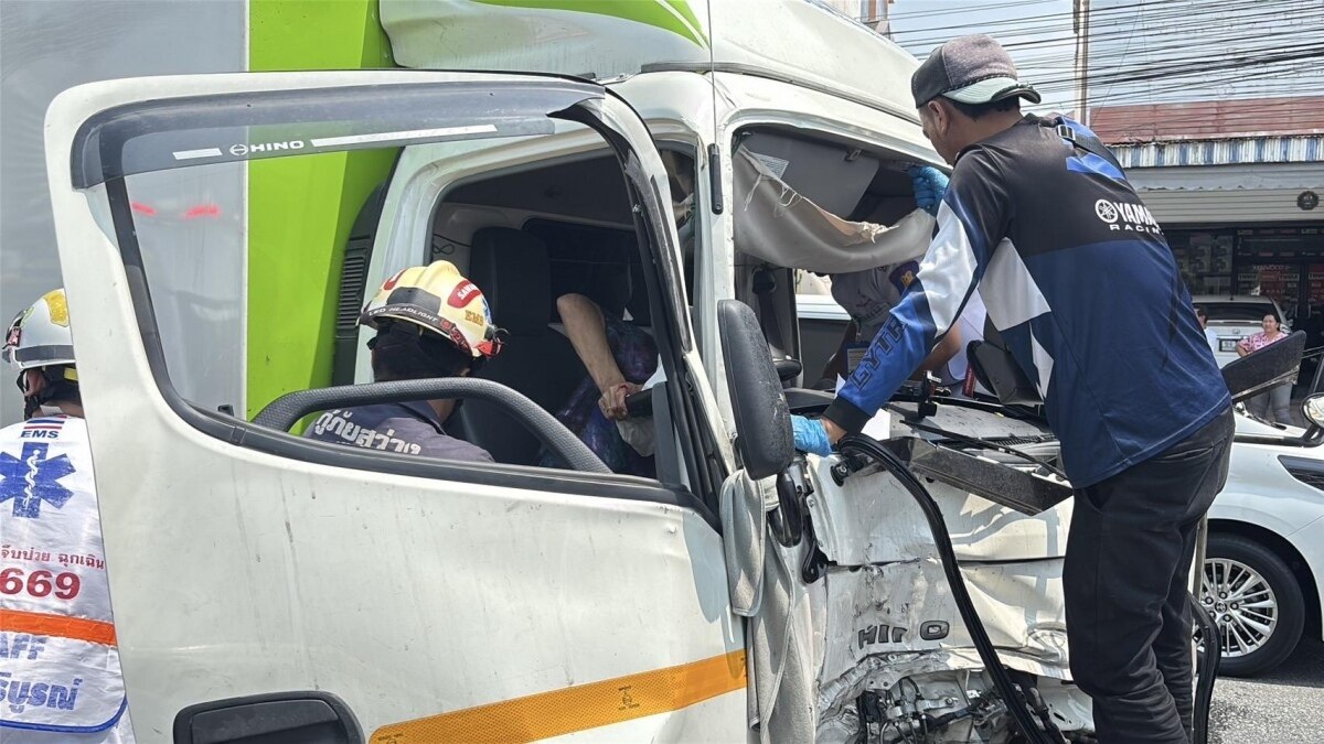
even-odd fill
[{"label": "wheel of the white car, with multi-spoke silver rim", "polygon": [[1305,600],[1287,564],[1264,545],[1238,535],[1210,535],[1200,602],[1218,624],[1229,676],[1263,674],[1287,658],[1301,638]]}]

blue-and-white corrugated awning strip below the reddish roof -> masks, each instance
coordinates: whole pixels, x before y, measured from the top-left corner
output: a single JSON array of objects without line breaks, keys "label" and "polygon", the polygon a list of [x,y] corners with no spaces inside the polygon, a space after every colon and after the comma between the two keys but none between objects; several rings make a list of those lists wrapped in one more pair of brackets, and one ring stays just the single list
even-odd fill
[{"label": "blue-and-white corrugated awning strip below the reddish roof", "polygon": [[1247,163],[1319,163],[1324,135],[1145,142],[1108,147],[1123,168],[1239,165]]}]

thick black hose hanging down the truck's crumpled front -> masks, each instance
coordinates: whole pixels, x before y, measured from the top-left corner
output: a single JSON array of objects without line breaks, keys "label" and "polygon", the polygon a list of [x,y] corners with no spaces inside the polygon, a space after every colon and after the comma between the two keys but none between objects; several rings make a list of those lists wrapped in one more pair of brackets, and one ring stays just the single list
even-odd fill
[{"label": "thick black hose hanging down the truck's crumpled front", "polygon": [[[904,462],[870,437],[851,434],[842,438],[837,446],[843,454],[854,451],[873,459],[891,473],[910,491],[911,496],[915,498],[920,511],[924,512],[924,518],[928,519],[928,528],[933,534],[933,543],[937,545],[937,555],[943,563],[943,573],[947,575],[947,582],[951,585],[956,608],[961,612],[961,621],[974,641],[974,649],[978,650],[980,659],[984,661],[984,667],[993,679],[993,686],[997,687],[1006,702],[1006,710],[1012,715],[1012,720],[1016,721],[1017,728],[1021,729],[1021,733],[1031,744],[1063,744],[1066,740],[1062,739],[1062,733],[1057,728],[1051,732],[1039,728],[1035,719],[1030,715],[1025,699],[1012,683],[1012,676],[1006,673],[1006,667],[1002,666],[1002,659],[998,658],[997,650],[989,639],[988,630],[984,629],[984,622],[974,612],[974,604],[970,601],[970,593],[965,588],[965,579],[961,576],[960,564],[956,563],[956,551],[952,548],[952,537],[947,532],[947,522],[943,519],[943,512],[937,508],[937,502],[928,494],[928,488],[915,478]],[[1053,735],[1057,736],[1054,737]]]}]

